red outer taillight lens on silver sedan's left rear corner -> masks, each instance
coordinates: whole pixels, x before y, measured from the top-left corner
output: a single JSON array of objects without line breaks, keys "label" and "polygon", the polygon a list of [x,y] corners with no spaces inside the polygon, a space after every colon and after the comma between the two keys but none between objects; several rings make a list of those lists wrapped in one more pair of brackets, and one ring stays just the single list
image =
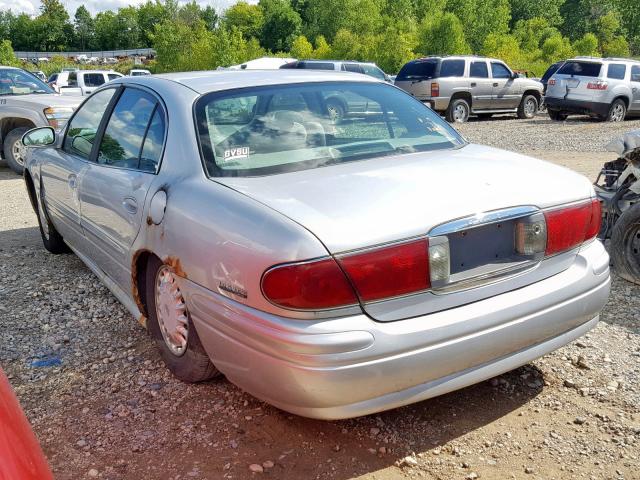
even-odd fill
[{"label": "red outer taillight lens on silver sedan's left rear corner", "polygon": [[311,310],[358,303],[349,281],[332,258],[274,267],[262,278],[262,292],[285,308]]}]

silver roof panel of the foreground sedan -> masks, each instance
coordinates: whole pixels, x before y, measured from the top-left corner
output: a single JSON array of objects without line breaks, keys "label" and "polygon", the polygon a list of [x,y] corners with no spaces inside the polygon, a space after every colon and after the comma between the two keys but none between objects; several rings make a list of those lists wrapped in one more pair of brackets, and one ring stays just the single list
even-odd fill
[{"label": "silver roof panel of the foreground sedan", "polygon": [[215,70],[208,72],[165,73],[153,75],[151,78],[136,77],[135,81],[146,83],[152,82],[154,79],[170,80],[198,93],[289,83],[339,82],[345,80],[382,83],[380,80],[359,73],[299,69]]}]

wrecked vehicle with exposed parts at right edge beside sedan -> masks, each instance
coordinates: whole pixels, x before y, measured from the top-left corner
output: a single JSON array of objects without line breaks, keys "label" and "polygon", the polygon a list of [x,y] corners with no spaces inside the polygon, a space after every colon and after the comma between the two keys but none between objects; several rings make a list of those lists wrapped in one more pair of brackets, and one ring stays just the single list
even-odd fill
[{"label": "wrecked vehicle with exposed parts at right edge beside sedan", "polygon": [[606,149],[618,158],[604,164],[595,182],[602,200],[599,237],[611,239],[616,273],[640,284],[640,130],[612,141]]}]

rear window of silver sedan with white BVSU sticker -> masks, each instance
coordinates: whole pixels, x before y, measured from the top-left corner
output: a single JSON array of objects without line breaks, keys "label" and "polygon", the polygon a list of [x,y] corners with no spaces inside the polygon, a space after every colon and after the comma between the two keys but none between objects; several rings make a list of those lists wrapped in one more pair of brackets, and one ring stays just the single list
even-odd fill
[{"label": "rear window of silver sedan with white BVSU sticker", "polygon": [[213,92],[197,101],[195,115],[210,176],[269,175],[464,144],[431,109],[381,83]]}]

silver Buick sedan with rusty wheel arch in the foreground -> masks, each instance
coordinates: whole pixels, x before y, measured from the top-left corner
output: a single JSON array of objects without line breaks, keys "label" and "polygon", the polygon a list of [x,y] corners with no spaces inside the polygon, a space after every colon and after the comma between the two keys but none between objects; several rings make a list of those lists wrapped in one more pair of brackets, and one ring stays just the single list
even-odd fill
[{"label": "silver Buick sedan with rusty wheel arch in the foreground", "polygon": [[594,327],[609,293],[586,178],[468,144],[364,76],[127,77],[23,142],[49,251],[146,321],[177,377],[221,372],[300,415],[508,371]]}]

